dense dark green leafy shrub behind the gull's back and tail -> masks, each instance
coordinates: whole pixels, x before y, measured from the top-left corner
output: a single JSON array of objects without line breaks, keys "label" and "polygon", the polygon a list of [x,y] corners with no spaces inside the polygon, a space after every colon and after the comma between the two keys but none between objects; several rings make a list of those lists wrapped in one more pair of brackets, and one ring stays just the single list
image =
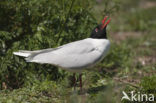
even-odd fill
[{"label": "dense dark green leafy shrub behind the gull's back and tail", "polygon": [[3,0],[0,2],[0,83],[18,88],[45,76],[64,76],[51,65],[27,64],[17,50],[56,47],[88,36],[95,20],[88,1]]}]

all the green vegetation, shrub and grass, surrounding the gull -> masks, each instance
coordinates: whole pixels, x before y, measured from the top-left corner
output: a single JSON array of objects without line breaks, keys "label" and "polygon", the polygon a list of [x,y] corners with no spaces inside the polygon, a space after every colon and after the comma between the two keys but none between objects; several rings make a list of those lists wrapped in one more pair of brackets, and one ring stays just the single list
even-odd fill
[{"label": "all the green vegetation, shrub and grass, surrounding the gull", "polygon": [[[156,4],[0,1],[0,103],[121,103],[122,91],[152,93],[156,100],[156,5],[146,6],[149,2]],[[26,63],[12,54],[86,38],[105,15],[112,19],[107,28],[111,50],[96,67],[83,72],[83,93],[72,88],[72,73]]]}]

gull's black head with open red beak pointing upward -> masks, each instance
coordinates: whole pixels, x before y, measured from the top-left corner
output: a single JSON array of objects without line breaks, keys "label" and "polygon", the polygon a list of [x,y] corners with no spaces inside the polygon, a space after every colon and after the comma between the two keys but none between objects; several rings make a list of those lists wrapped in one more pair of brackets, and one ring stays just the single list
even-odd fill
[{"label": "gull's black head with open red beak pointing upward", "polygon": [[102,24],[96,26],[92,33],[91,33],[91,38],[95,38],[95,39],[106,39],[107,35],[106,35],[106,27],[107,24],[110,22],[110,19],[105,23],[106,19],[108,16],[106,16],[103,20],[102,20]]}]

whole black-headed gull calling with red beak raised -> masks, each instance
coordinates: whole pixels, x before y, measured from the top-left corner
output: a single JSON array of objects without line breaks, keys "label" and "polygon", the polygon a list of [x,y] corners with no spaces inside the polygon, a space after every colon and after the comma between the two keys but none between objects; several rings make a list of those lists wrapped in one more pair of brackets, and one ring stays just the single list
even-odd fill
[{"label": "whole black-headed gull calling with red beak raised", "polygon": [[[110,19],[107,22],[106,20],[107,16],[102,20],[102,24],[93,29],[89,38],[71,42],[57,48],[36,51],[20,50],[13,54],[25,57],[27,62],[52,64],[74,72],[75,88],[75,73],[94,66],[106,56],[110,48],[110,41],[106,35],[106,27]],[[80,88],[82,89],[81,73],[79,79]]]}]

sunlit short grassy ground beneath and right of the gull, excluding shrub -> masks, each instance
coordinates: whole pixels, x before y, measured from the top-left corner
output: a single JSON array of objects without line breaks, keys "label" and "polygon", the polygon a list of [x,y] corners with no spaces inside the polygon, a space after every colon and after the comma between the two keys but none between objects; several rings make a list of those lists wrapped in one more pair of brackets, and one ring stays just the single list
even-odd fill
[{"label": "sunlit short grassy ground beneath and right of the gull, excluding shrub", "polygon": [[156,7],[137,5],[131,5],[134,12],[122,10],[120,17],[114,16],[112,29],[108,28],[112,30],[110,53],[92,71],[83,73],[83,93],[71,88],[67,76],[58,82],[32,80],[22,88],[0,91],[0,103],[120,103],[123,90],[156,96]]}]

